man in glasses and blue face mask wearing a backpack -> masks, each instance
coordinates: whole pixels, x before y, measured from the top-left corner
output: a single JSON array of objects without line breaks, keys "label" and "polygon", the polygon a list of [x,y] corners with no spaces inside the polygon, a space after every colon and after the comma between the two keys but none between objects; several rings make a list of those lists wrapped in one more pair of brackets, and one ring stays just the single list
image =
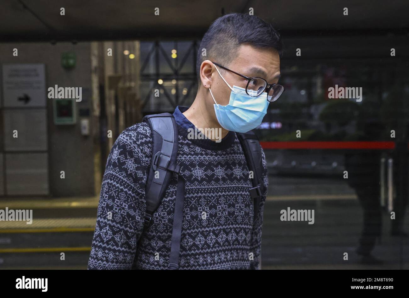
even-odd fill
[{"label": "man in glasses and blue face mask wearing a backpack", "polygon": [[[239,133],[260,125],[284,91],[278,85],[282,47],[279,34],[256,16],[232,13],[211,24],[198,51],[191,107],[176,107],[174,127],[138,123],[113,145],[88,269],[260,269],[267,167],[260,147],[261,185],[253,187]],[[150,209],[151,167],[166,158],[163,151],[155,155],[154,138],[168,127],[177,132],[177,157],[168,154],[161,169],[173,176]],[[221,140],[206,130],[206,138],[189,137],[195,128],[219,130]],[[162,149],[176,144],[162,138]]]}]

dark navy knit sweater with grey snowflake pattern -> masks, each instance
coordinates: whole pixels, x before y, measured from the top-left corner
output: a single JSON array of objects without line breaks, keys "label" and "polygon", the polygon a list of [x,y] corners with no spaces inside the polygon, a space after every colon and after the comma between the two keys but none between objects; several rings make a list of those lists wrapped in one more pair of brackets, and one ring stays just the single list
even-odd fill
[{"label": "dark navy knit sweater with grey snowflake pattern", "polygon": [[[268,184],[264,152],[264,192],[253,220],[249,169],[236,133],[230,131],[221,142],[187,136],[178,125],[177,164],[185,180],[180,269],[259,269]],[[142,234],[151,156],[152,133],[145,122],[128,127],[115,141],[103,176],[88,269],[168,268],[178,176],[173,175]]]}]

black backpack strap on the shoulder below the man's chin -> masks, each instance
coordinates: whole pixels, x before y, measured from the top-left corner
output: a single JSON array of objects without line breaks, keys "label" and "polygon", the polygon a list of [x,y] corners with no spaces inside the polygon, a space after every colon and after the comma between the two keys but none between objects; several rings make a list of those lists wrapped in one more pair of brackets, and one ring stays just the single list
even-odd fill
[{"label": "black backpack strap on the shoulder below the man's chin", "polygon": [[243,148],[244,155],[247,160],[247,166],[249,171],[253,172],[252,185],[249,189],[250,196],[254,199],[254,219],[258,215],[258,208],[260,206],[260,198],[263,193],[263,164],[261,160],[261,145],[258,141],[258,137],[253,131],[247,131],[245,133],[237,133],[240,140],[241,147]]}]

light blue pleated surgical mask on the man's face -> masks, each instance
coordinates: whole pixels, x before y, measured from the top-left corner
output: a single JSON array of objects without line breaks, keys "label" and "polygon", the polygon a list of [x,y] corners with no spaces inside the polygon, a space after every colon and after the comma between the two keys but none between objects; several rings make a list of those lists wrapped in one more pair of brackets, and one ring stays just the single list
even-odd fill
[{"label": "light blue pleated surgical mask on the man's face", "polygon": [[[236,132],[247,132],[258,127],[261,121],[263,121],[265,114],[267,114],[267,107],[270,104],[267,100],[267,92],[263,92],[259,96],[249,96],[245,88],[237,86],[231,88],[217,67],[216,70],[231,89],[229,104],[222,106],[218,105],[209,88],[211,97],[215,102],[215,105],[213,105],[214,111],[220,126]],[[253,90],[248,90],[248,92],[257,93]]]}]

